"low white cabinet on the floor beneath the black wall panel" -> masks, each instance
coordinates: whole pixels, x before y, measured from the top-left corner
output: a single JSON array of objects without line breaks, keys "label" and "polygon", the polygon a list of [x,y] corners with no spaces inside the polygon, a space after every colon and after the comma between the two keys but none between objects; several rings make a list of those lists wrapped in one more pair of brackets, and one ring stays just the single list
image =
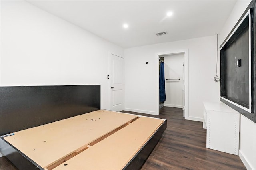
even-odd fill
[{"label": "low white cabinet on the floor beneath the black wall panel", "polygon": [[204,102],[206,148],[238,155],[240,114],[224,103]]}]

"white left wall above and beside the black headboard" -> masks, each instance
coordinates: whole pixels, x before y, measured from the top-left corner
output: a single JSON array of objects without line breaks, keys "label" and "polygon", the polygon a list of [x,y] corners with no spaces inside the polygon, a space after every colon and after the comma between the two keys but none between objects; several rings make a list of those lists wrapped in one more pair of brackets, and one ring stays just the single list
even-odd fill
[{"label": "white left wall above and beside the black headboard", "polygon": [[1,1],[1,86],[101,85],[108,109],[108,53],[124,49],[25,1]]}]

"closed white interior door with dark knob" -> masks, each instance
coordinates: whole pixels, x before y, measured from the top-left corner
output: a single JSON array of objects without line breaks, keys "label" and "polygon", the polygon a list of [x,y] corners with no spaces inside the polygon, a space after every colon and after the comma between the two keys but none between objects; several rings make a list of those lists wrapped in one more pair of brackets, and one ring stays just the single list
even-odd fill
[{"label": "closed white interior door with dark knob", "polygon": [[110,110],[122,111],[124,109],[124,83],[123,83],[124,59],[116,55],[109,56],[109,80],[110,80]]}]

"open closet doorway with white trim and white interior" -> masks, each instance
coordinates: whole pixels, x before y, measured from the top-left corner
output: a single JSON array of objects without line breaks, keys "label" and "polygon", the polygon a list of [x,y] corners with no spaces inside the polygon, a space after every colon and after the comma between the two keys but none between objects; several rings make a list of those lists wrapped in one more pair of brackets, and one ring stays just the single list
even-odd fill
[{"label": "open closet doorway with white trim and white interior", "polygon": [[158,114],[162,101],[162,85],[160,79],[161,62],[164,64],[165,101],[166,107],[183,109],[183,117],[188,117],[188,50],[157,53],[158,63]]}]

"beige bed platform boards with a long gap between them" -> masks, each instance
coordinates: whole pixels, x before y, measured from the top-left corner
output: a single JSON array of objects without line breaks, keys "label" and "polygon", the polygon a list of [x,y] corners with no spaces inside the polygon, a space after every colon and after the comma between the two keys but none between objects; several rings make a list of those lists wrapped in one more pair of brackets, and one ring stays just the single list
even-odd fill
[{"label": "beige bed platform boards with a long gap between them", "polygon": [[122,169],[164,119],[98,110],[4,139],[46,170]]}]

